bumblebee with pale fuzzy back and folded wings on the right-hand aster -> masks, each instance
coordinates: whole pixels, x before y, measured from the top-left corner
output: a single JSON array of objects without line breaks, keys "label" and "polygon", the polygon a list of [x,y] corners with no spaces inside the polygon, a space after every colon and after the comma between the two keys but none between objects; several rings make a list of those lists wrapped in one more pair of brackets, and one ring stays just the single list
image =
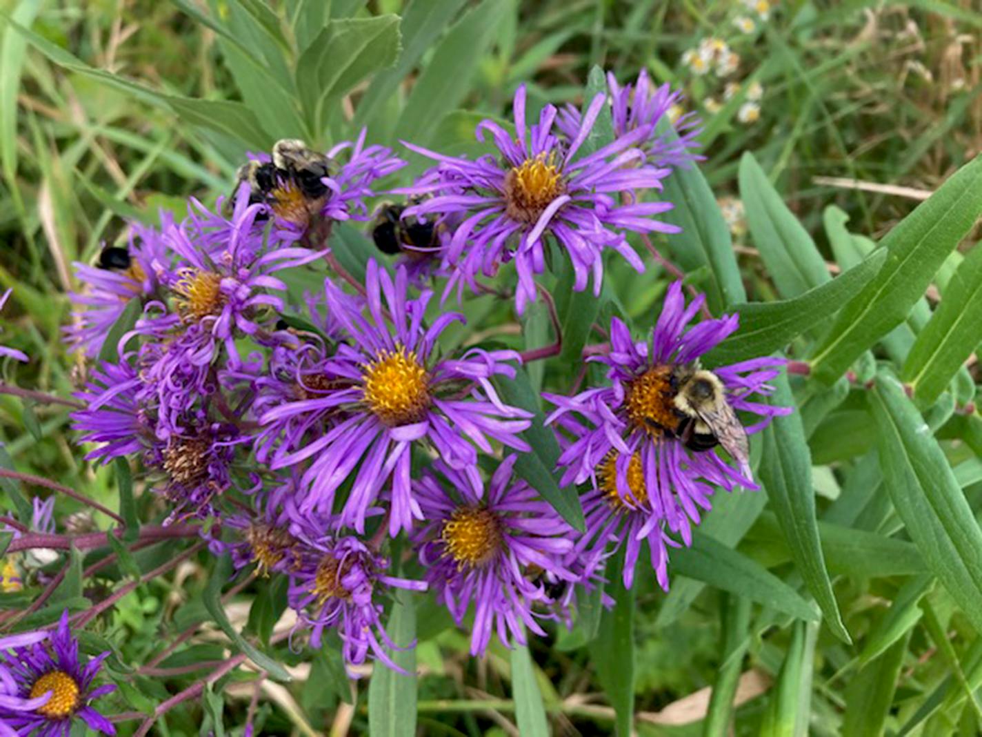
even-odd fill
[{"label": "bumblebee with pale fuzzy back and folded wings on the right-hand aster", "polygon": [[703,453],[722,445],[740,468],[749,464],[750,449],[743,425],[727,399],[723,381],[698,364],[683,364],[672,370],[669,385],[678,425],[668,427],[691,451]]}]

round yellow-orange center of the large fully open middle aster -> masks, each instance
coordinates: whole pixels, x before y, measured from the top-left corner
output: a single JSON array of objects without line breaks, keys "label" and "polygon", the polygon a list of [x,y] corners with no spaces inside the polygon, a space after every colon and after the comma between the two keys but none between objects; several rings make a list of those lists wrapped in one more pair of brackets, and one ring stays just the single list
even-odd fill
[{"label": "round yellow-orange center of the large fully open middle aster", "polygon": [[385,425],[418,422],[429,407],[429,374],[414,351],[379,351],[361,376],[368,409]]}]

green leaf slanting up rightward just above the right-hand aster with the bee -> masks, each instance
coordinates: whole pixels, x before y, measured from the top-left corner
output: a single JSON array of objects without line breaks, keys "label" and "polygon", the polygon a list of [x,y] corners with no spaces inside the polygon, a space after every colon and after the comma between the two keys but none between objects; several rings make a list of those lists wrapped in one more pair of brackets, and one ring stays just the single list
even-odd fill
[{"label": "green leaf slanting up rightward just above the right-hand aster with the bee", "polygon": [[707,366],[735,364],[784,349],[794,338],[827,322],[859,293],[886,260],[877,251],[835,279],[790,300],[737,305],[739,330],[706,357]]}]

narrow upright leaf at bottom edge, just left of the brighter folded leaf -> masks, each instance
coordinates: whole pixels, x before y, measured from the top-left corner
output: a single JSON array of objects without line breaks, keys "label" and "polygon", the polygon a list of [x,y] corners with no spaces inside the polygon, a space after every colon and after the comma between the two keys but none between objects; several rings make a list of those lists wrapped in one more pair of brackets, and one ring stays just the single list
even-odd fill
[{"label": "narrow upright leaf at bottom edge, just left of the brighter folded leaf", "polygon": [[730,734],[736,685],[743,670],[743,655],[750,645],[751,608],[748,598],[723,596],[720,607],[723,619],[721,663],[702,724],[703,737],[727,737]]}]

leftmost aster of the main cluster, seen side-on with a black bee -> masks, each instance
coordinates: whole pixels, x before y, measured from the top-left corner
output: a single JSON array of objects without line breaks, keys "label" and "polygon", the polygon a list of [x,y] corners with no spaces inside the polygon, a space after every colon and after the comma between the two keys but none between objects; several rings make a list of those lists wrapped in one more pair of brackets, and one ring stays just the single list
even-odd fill
[{"label": "leftmost aster of the main cluster, seen side-on with a black bee", "polygon": [[[162,215],[162,225],[172,224],[169,214]],[[157,293],[156,271],[169,261],[167,247],[160,233],[140,223],[130,223],[127,248],[103,249],[97,264],[74,262],[75,276],[84,285],[71,294],[76,310],[72,324],[65,328],[73,349],[95,358],[110,328],[120,318],[130,300],[146,302]]]}]

